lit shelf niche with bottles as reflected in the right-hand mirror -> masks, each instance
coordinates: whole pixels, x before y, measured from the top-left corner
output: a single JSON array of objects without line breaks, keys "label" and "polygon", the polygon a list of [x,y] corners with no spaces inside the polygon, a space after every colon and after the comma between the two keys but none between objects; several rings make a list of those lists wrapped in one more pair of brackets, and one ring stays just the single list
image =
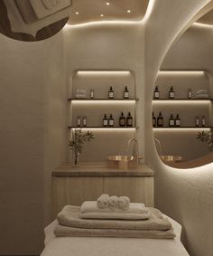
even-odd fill
[{"label": "lit shelf niche with bottles as reflected in the right-hand mirror", "polygon": [[[171,114],[173,119],[178,114],[181,119],[180,129],[211,128],[210,113],[213,99],[210,97],[209,77],[206,71],[160,71],[156,86],[160,98],[153,94],[153,112],[157,119],[162,112],[163,127],[154,129],[175,128],[170,126]],[[174,99],[169,98],[171,87]]]}]

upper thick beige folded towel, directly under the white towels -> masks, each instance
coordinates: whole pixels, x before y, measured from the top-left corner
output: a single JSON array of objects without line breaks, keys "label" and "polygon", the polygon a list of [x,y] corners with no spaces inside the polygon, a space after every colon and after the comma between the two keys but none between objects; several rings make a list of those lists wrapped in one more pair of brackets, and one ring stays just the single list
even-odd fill
[{"label": "upper thick beige folded towel, directly under the white towels", "polygon": [[91,229],[138,229],[169,230],[171,223],[155,208],[148,208],[150,218],[146,221],[87,220],[79,217],[79,206],[66,205],[57,216],[57,221],[64,226]]}]

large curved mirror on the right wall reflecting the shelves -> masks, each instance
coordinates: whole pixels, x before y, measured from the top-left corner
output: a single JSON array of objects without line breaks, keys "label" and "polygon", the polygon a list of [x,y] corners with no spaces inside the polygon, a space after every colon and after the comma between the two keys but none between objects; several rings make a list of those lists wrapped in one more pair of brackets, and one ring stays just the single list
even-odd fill
[{"label": "large curved mirror on the right wall reflecting the shelves", "polygon": [[153,91],[155,146],[168,166],[213,161],[213,11],[181,35],[167,52]]}]

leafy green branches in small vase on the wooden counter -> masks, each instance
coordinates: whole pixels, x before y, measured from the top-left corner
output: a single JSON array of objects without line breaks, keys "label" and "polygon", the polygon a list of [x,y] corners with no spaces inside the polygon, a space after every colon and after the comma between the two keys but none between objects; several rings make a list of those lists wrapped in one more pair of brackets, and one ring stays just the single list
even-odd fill
[{"label": "leafy green branches in small vase on the wooden counter", "polygon": [[80,128],[74,130],[72,134],[72,139],[69,141],[69,147],[74,153],[75,166],[78,165],[79,154],[82,152],[84,144],[86,142],[89,142],[92,138],[94,138],[94,135],[92,132],[88,131],[87,133],[83,133]]}]

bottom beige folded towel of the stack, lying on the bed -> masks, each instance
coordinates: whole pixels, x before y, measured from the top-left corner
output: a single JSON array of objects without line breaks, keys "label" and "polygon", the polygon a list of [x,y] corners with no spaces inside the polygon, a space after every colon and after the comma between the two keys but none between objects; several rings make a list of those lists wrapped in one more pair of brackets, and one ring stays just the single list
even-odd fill
[{"label": "bottom beige folded towel of the stack, lying on the bed", "polygon": [[88,236],[88,237],[133,237],[133,238],[174,238],[172,230],[143,231],[143,230],[116,230],[116,229],[82,229],[57,225],[54,233],[57,237]]}]

